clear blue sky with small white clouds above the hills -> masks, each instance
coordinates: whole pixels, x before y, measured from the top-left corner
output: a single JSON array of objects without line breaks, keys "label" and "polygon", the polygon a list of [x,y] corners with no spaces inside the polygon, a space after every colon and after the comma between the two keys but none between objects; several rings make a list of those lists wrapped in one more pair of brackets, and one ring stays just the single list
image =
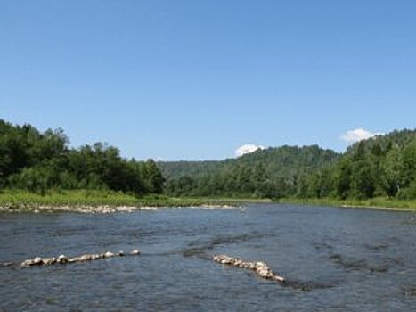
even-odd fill
[{"label": "clear blue sky with small white clouds above the hills", "polygon": [[[413,0],[0,0],[0,119],[137,160],[416,126]],[[240,149],[239,149],[240,148]]]}]

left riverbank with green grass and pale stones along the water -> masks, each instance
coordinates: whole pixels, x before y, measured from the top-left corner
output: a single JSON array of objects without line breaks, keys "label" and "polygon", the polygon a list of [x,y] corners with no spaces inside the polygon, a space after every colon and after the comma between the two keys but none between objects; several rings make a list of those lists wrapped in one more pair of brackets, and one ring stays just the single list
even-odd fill
[{"label": "left riverbank with green grass and pale stones along the water", "polygon": [[51,191],[45,194],[16,190],[0,193],[0,211],[110,213],[169,207],[230,208],[247,202],[270,200],[222,198],[173,198],[165,195],[135,197],[126,193],[97,190]]}]

